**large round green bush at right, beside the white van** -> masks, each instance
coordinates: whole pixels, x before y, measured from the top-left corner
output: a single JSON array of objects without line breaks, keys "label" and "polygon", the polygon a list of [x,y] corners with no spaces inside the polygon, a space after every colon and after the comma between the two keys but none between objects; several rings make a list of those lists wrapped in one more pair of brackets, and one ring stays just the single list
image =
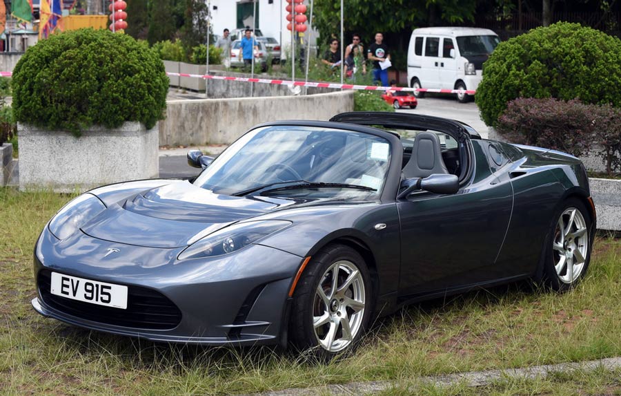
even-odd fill
[{"label": "large round green bush at right, beside the white van", "polygon": [[517,97],[621,106],[621,40],[578,23],[555,23],[504,41],[483,66],[476,103],[495,125]]}]

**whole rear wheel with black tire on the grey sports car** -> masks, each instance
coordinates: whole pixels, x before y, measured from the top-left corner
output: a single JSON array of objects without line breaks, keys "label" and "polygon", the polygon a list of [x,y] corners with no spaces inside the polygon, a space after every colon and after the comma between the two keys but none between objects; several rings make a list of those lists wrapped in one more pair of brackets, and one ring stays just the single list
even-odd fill
[{"label": "whole rear wheel with black tire on the grey sports car", "polygon": [[591,261],[593,231],[584,203],[577,198],[566,200],[554,215],[544,246],[545,286],[564,291],[580,283]]}]

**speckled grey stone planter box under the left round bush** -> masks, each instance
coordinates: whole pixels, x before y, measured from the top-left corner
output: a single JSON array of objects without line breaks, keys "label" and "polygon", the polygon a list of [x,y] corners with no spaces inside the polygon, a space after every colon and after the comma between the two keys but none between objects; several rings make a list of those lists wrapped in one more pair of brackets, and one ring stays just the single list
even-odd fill
[{"label": "speckled grey stone planter box under the left round bush", "polygon": [[126,180],[159,176],[158,126],[126,122],[118,129],[92,126],[75,138],[17,124],[19,189],[86,191]]}]

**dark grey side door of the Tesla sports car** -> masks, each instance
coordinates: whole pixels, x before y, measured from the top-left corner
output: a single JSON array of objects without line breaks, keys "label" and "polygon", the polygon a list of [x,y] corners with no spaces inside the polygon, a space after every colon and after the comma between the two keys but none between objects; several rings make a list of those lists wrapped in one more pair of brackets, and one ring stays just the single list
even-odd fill
[{"label": "dark grey side door of the Tesla sports car", "polygon": [[449,292],[497,279],[494,263],[511,218],[509,180],[498,180],[477,141],[473,176],[457,194],[418,191],[397,202],[400,296]]}]

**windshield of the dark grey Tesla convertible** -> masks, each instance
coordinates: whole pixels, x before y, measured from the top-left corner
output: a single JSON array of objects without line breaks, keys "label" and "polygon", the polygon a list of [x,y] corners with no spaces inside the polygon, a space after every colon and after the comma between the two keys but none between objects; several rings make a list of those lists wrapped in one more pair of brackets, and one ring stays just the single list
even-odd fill
[{"label": "windshield of the dark grey Tesla convertible", "polygon": [[265,126],[239,138],[194,184],[226,195],[257,189],[262,195],[375,199],[390,160],[390,144],[379,136],[315,126]]}]

